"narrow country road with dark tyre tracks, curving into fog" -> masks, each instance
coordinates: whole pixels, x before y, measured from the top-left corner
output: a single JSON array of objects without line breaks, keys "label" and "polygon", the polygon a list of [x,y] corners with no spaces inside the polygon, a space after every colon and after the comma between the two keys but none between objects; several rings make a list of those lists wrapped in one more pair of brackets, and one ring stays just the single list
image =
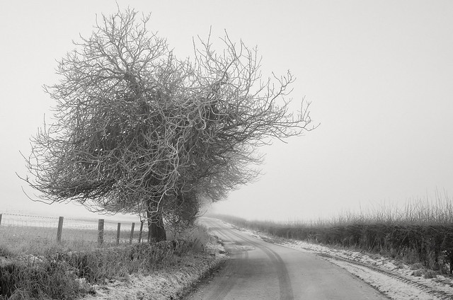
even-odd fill
[{"label": "narrow country road with dark tyre tracks, curving into fog", "polygon": [[267,243],[222,221],[203,218],[231,259],[188,300],[384,300],[349,272],[316,255]]}]

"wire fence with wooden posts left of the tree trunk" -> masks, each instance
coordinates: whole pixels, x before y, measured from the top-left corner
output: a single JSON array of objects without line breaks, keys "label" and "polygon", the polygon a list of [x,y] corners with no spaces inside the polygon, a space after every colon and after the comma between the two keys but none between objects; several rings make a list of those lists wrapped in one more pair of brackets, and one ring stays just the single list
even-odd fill
[{"label": "wire fence with wooden posts left of the tree trunk", "polygon": [[25,214],[0,214],[0,243],[142,243],[148,231],[144,221],[71,219]]}]

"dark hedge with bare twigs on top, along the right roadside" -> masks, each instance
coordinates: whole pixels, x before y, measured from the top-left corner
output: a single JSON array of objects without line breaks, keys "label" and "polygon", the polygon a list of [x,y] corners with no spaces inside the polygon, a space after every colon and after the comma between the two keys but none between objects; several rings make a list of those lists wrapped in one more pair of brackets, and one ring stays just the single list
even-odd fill
[{"label": "dark hedge with bare twigs on top, along the right roadside", "polygon": [[365,250],[408,264],[419,263],[440,274],[453,273],[453,204],[446,196],[435,202],[408,202],[399,209],[381,207],[311,222],[217,217],[273,236]]}]

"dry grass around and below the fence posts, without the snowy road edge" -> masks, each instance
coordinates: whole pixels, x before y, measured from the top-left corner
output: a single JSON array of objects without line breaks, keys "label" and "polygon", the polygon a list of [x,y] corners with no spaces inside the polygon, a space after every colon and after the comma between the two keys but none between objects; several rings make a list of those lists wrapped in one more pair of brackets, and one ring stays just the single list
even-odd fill
[{"label": "dry grass around and below the fence posts, without the snowy road edge", "polygon": [[96,240],[57,244],[48,238],[50,229],[4,229],[9,234],[0,243],[0,256],[7,258],[3,264],[0,260],[0,299],[75,299],[92,292],[92,284],[174,268],[210,239],[205,228],[195,227],[176,241],[104,243],[98,248]]}]

